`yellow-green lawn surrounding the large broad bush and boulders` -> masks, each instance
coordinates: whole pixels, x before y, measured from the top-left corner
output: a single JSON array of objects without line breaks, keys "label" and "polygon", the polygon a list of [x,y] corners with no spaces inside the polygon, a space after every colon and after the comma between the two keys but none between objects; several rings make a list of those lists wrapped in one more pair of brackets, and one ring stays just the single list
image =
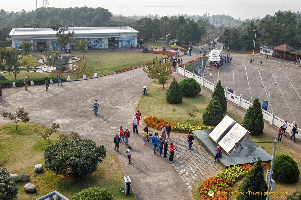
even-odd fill
[{"label": "yellow-green lawn surrounding the large broad bush and boulders", "polygon": [[[18,131],[15,131],[14,123],[0,126],[0,167],[5,168],[11,174],[29,174],[27,182],[17,182],[19,188],[19,200],[33,200],[57,190],[67,198],[88,187],[103,187],[112,192],[114,199],[136,199],[135,195],[125,195],[119,192],[123,183],[123,170],[116,155],[107,152],[103,163],[99,163],[98,169],[86,177],[56,176],[53,171],[34,172],[34,166],[44,165],[44,150],[48,148],[48,142],[34,134],[34,128],[42,131],[43,127],[27,122],[18,123]],[[58,133],[51,135],[51,143],[58,140]],[[2,165],[2,166],[1,166]],[[36,185],[36,192],[26,193],[23,189],[26,183]]]}]

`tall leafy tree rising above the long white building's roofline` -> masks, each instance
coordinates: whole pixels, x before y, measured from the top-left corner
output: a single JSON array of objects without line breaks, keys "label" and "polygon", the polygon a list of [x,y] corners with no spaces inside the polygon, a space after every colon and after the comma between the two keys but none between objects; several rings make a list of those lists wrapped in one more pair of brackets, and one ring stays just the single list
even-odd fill
[{"label": "tall leafy tree rising above the long white building's roofline", "polygon": [[[55,41],[55,45],[60,45],[64,50],[66,49],[67,44],[71,42],[71,38],[74,35],[74,30],[72,32],[68,31],[68,27],[60,28],[58,24],[55,26],[51,26],[51,29],[57,31],[55,34],[57,36],[57,40]],[[65,31],[68,31],[65,33]]]}]

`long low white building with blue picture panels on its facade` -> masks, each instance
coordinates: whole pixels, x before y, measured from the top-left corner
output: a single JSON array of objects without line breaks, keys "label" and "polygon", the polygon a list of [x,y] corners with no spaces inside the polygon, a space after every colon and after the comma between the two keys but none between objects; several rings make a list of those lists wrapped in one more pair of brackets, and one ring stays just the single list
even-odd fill
[{"label": "long low white building with blue picture panels on its facade", "polygon": [[[68,49],[75,49],[76,41],[80,38],[85,38],[88,42],[88,48],[112,48],[115,44],[118,48],[129,48],[131,45],[135,47],[137,45],[138,31],[129,26],[117,26],[117,27],[70,27],[68,31],[74,35],[67,45]],[[67,33],[66,31],[65,33]],[[40,49],[51,50],[53,47],[55,50],[60,50],[61,47],[56,45],[57,31],[51,28],[29,28],[29,29],[11,29],[9,33],[11,37],[12,47],[19,49],[19,44],[22,42],[30,42],[33,44],[33,51],[40,51]],[[64,49],[64,47],[62,47]]]}]

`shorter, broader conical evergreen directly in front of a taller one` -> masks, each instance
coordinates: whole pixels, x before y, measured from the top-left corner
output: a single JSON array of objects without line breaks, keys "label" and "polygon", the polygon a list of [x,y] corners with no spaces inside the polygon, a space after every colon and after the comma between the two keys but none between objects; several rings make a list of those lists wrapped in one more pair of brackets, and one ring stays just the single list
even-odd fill
[{"label": "shorter, broader conical evergreen directly in front of a taller one", "polygon": [[211,99],[203,112],[203,122],[206,125],[216,126],[224,118],[222,106],[218,100]]}]

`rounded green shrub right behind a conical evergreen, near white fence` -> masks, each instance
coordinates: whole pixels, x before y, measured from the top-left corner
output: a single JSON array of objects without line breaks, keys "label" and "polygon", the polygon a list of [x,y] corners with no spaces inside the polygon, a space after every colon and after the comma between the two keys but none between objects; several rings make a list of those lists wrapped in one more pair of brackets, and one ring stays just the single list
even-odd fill
[{"label": "rounded green shrub right behind a conical evergreen, near white fence", "polygon": [[193,78],[185,78],[179,83],[184,97],[195,97],[201,92],[201,86]]}]

